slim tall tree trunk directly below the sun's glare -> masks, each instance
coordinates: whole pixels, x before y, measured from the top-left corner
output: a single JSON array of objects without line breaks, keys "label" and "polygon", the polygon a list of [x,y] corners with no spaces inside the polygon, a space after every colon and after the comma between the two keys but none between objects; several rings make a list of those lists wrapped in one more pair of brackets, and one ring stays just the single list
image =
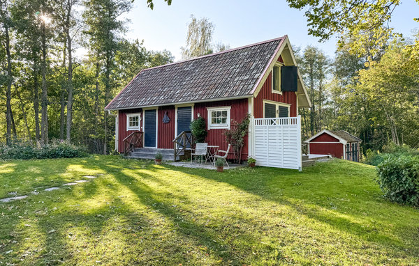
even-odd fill
[{"label": "slim tall tree trunk directly below the sun's glare", "polygon": [[41,98],[41,141],[48,143],[48,95],[47,95],[47,45],[45,40],[45,22],[42,22],[42,98]]}]

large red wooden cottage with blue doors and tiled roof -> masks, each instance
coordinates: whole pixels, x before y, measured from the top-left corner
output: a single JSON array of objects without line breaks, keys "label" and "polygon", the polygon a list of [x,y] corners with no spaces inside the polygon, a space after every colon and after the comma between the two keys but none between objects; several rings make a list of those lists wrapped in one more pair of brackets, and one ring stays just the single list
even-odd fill
[{"label": "large red wooden cottage with blue doors and tiled roof", "polygon": [[[296,117],[298,107],[310,106],[291,44],[283,36],[142,70],[105,109],[117,112],[118,152],[124,152],[133,132],[141,132],[140,142],[155,152],[173,150],[173,140],[198,116],[207,121],[206,142],[225,150],[222,133],[233,120],[240,122],[247,114]],[[247,136],[242,158],[251,155],[252,147]]]}]

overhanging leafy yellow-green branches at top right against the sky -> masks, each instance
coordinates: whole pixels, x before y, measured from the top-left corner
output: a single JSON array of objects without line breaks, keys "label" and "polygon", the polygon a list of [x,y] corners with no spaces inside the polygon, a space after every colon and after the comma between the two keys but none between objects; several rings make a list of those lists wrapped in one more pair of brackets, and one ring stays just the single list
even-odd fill
[{"label": "overhanging leafy yellow-green branches at top right against the sky", "polygon": [[[287,0],[291,8],[304,9],[307,17],[309,34],[328,40],[333,35],[339,35],[341,40],[353,38],[351,52],[360,52],[362,47],[374,42],[383,47],[392,36],[389,28],[392,12],[399,5],[399,0],[321,0],[301,1]],[[379,49],[372,49],[376,54]]]}]

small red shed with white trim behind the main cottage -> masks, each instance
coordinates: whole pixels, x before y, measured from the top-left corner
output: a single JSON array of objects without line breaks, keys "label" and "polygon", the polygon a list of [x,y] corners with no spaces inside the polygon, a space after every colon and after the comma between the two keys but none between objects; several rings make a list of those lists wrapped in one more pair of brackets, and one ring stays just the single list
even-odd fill
[{"label": "small red shed with white trim behind the main cottage", "polygon": [[353,162],[360,161],[361,142],[361,139],[344,130],[323,130],[304,141],[308,144],[311,155],[332,155]]}]

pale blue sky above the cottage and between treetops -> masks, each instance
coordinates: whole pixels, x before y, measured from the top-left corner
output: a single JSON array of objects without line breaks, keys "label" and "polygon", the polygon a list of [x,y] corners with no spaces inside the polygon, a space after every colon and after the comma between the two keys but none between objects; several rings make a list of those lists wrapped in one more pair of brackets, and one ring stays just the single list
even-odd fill
[{"label": "pale blue sky above the cottage and between treetops", "polygon": [[[419,28],[413,21],[418,14],[419,4],[404,0],[393,13],[390,26],[411,36],[413,29]],[[315,45],[331,57],[336,49],[336,38],[318,42],[309,36],[304,12],[289,8],[285,0],[172,0],[171,6],[154,0],[154,10],[147,8],[146,0],[135,0],[125,15],[131,21],[126,25],[126,38],[144,40],[147,49],[168,49],[179,61],[191,15],[210,19],[215,28],[214,42],[231,48],[288,35],[293,47]]]}]

